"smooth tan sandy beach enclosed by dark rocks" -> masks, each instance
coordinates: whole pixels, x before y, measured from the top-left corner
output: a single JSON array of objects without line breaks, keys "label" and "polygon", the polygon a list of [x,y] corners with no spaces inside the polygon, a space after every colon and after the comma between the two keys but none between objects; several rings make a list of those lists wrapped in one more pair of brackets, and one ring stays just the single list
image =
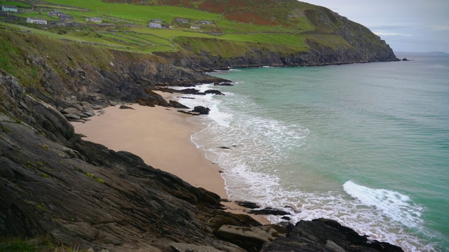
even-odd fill
[{"label": "smooth tan sandy beach enclosed by dark rocks", "polygon": [[[159,92],[168,99],[173,94]],[[188,123],[187,114],[174,108],[128,105],[133,109],[110,106],[104,114],[93,116],[86,123],[72,123],[75,132],[86,141],[107,146],[114,151],[128,151],[140,156],[147,165],[174,174],[192,186],[205,188],[222,199],[228,199],[220,167],[207,160],[194,146],[190,137],[201,130],[201,125]],[[236,214],[245,214],[245,208],[232,202],[223,202]],[[253,215],[252,215],[253,216]],[[263,216],[253,216],[268,224]]]}]

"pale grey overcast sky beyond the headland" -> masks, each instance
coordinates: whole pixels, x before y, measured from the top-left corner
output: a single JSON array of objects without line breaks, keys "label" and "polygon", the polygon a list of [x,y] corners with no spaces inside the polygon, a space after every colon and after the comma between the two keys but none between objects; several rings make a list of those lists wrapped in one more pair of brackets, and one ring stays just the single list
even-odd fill
[{"label": "pale grey overcast sky beyond the headland", "polygon": [[302,0],[368,27],[395,52],[449,53],[449,0]]}]

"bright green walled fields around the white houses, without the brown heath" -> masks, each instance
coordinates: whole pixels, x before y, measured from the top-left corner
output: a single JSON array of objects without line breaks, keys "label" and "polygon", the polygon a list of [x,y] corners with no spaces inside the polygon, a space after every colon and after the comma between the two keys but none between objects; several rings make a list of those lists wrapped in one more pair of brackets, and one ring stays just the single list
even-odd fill
[{"label": "bright green walled fields around the white houses, without the brown heath", "polygon": [[[211,41],[229,41],[236,47],[241,43],[264,43],[273,45],[286,45],[295,50],[307,50],[304,43],[304,32],[313,31],[314,26],[304,15],[297,15],[292,22],[300,25],[255,25],[253,23],[227,20],[225,15],[210,13],[193,8],[179,6],[141,6],[126,3],[105,3],[100,0],[30,0],[27,3],[20,1],[2,1],[0,3],[22,6],[27,8],[33,3],[35,10],[17,13],[18,18],[38,17],[53,22],[58,18],[49,17],[48,11],[57,10],[67,13],[77,22],[77,27],[42,27],[29,25],[24,21],[15,21],[14,24],[2,23],[0,26],[15,27],[15,29],[28,29],[36,34],[43,34],[52,38],[69,41],[94,43],[102,47],[116,50],[130,50],[135,52],[166,52],[181,50],[177,41],[185,38],[201,38],[196,43]],[[200,2],[196,2],[198,8]],[[76,5],[76,6],[75,6]],[[102,18],[102,25],[86,22],[87,17]],[[185,18],[189,24],[178,24],[175,18]],[[170,29],[149,28],[152,19],[163,20],[162,25]],[[201,29],[190,29],[199,20],[213,22],[210,25],[200,25]],[[177,39],[180,38],[180,39]],[[206,45],[207,44],[207,45]],[[201,45],[198,45],[201,47]],[[229,46],[234,46],[229,44]]]}]

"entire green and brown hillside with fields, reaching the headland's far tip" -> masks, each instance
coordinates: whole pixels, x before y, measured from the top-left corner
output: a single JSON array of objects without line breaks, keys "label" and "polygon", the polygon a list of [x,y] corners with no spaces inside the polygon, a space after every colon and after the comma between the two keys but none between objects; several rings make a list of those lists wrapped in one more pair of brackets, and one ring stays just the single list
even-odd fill
[{"label": "entire green and brown hillside with fields, reaching the headland's far tip", "polygon": [[[0,27],[128,52],[202,52],[229,59],[247,57],[245,50],[258,46],[279,55],[312,50],[321,54],[325,48],[326,53],[340,50],[348,55],[351,51],[351,59],[345,62],[367,62],[383,56],[371,53],[363,58],[366,51],[384,50],[386,45],[365,27],[331,10],[295,0],[15,0],[0,4],[20,7],[18,13],[0,13]],[[50,11],[64,12],[73,20],[62,23],[57,16],[49,16]],[[44,18],[48,25],[28,24],[25,20],[30,17]],[[179,18],[187,22],[177,22]],[[161,21],[162,28],[149,27],[154,19]],[[319,64],[326,64],[326,57],[322,58]]]}]

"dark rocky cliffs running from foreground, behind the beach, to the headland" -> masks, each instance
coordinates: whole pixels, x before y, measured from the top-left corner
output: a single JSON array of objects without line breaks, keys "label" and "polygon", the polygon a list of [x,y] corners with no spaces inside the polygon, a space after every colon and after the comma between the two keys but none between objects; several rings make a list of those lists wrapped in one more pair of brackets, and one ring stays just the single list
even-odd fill
[{"label": "dark rocky cliffs running from foreground, behind the beach, to the headland", "polygon": [[[95,251],[401,251],[332,221],[261,227],[246,215],[229,214],[214,193],[155,169],[132,153],[83,141],[64,112],[89,113],[116,102],[170,106],[152,88],[222,81],[192,69],[228,63],[340,64],[357,57],[370,61],[378,53],[392,59],[387,50],[362,57],[349,47],[335,56],[328,53],[330,48],[316,48],[283,58],[280,52],[254,48],[246,52],[248,58],[217,57],[214,62],[207,54],[143,55],[17,31],[2,30],[0,38],[7,45],[1,55],[8,63],[0,70],[2,237],[49,234],[57,242]],[[251,235],[242,235],[242,230],[252,230]],[[340,235],[320,235],[328,232],[323,230]]]}]

